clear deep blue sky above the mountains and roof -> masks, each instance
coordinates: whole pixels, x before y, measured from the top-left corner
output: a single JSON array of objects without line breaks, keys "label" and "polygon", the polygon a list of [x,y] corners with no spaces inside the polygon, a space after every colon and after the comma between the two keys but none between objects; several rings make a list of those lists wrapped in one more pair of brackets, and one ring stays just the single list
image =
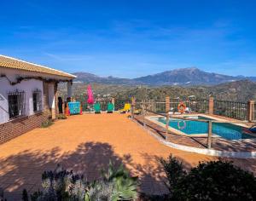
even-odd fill
[{"label": "clear deep blue sky above the mountains and roof", "polygon": [[256,2],[1,1],[0,54],[136,78],[180,67],[256,76]]}]

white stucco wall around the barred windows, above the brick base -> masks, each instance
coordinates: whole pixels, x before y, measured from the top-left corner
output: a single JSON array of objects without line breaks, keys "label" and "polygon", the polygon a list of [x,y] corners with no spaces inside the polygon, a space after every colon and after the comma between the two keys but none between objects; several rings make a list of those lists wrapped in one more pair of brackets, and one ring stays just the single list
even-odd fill
[{"label": "white stucco wall around the barred windows, above the brick base", "polygon": [[[16,78],[20,77],[19,71],[8,71],[0,68],[0,74],[5,74],[12,82],[16,81]],[[0,78],[0,123],[9,121],[9,104],[8,104],[8,93],[13,92],[16,89],[19,91],[25,91],[26,93],[26,115],[32,115],[33,104],[32,104],[32,92],[36,89],[42,91],[43,100],[43,81],[37,79],[23,80],[21,83],[11,85],[7,78]],[[44,108],[44,103],[42,103]]]}]

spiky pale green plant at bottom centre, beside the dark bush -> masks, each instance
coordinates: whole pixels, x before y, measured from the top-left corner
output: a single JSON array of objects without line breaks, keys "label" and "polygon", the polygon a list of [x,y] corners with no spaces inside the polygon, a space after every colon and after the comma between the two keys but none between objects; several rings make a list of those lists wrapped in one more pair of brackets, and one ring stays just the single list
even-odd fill
[{"label": "spiky pale green plant at bottom centre, beside the dark bush", "polygon": [[102,180],[91,183],[85,201],[117,201],[137,198],[137,177],[120,165],[118,169],[109,162],[108,171],[102,171]]}]

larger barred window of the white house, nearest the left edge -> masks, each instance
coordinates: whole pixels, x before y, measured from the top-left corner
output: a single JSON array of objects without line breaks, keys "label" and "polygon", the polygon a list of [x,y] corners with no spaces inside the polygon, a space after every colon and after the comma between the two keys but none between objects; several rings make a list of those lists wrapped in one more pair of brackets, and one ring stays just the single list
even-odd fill
[{"label": "larger barred window of the white house, nearest the left edge", "polygon": [[19,118],[26,115],[25,91],[9,92],[9,118]]}]

